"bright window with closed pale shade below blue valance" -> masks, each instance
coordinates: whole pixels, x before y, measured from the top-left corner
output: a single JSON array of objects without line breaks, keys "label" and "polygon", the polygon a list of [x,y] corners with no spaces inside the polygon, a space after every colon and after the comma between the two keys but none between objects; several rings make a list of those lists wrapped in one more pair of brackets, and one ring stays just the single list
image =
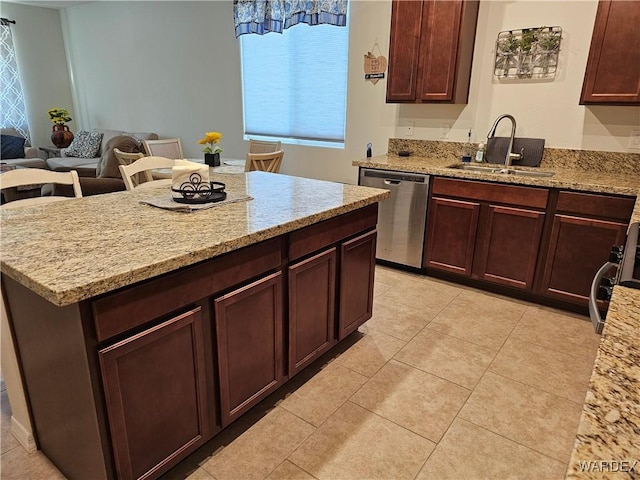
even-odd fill
[{"label": "bright window with closed pale shade below blue valance", "polygon": [[240,37],[247,138],[344,147],[348,25]]}]

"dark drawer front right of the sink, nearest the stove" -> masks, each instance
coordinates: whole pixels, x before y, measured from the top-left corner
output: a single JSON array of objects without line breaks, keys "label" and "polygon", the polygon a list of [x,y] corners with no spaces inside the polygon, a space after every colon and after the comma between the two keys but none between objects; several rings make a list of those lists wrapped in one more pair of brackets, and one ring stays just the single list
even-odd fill
[{"label": "dark drawer front right of the sink, nearest the stove", "polygon": [[562,213],[606,217],[628,222],[635,203],[635,199],[631,197],[560,192],[556,210]]}]

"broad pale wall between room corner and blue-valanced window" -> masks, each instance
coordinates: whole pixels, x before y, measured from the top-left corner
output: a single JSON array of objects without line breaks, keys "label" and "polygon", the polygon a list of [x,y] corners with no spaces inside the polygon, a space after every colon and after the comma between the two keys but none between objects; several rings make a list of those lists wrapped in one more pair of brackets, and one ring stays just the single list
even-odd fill
[{"label": "broad pale wall between room corner and blue-valanced window", "polygon": [[244,158],[231,2],[93,2],[63,20],[82,128],[178,136],[187,157],[217,130]]}]

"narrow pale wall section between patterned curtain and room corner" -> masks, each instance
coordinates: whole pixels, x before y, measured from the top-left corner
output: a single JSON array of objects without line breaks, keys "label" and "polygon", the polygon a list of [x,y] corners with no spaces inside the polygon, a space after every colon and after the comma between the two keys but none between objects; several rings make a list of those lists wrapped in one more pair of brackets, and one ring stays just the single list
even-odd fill
[{"label": "narrow pale wall section between patterned curtain and room corner", "polygon": [[[2,16],[15,20],[11,32],[16,49],[29,121],[31,144],[51,145],[47,110],[66,108],[75,120],[71,86],[58,10],[2,2]],[[71,130],[75,123],[70,122]]]}]

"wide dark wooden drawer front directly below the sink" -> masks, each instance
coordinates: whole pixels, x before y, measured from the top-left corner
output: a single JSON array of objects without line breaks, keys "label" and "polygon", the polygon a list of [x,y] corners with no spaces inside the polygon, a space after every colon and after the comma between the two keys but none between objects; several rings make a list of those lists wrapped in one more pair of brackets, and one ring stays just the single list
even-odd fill
[{"label": "wide dark wooden drawer front directly below the sink", "polygon": [[433,194],[462,197],[465,200],[506,203],[514,206],[540,209],[546,208],[547,198],[549,197],[549,190],[545,188],[442,177],[433,179],[431,191]]}]

